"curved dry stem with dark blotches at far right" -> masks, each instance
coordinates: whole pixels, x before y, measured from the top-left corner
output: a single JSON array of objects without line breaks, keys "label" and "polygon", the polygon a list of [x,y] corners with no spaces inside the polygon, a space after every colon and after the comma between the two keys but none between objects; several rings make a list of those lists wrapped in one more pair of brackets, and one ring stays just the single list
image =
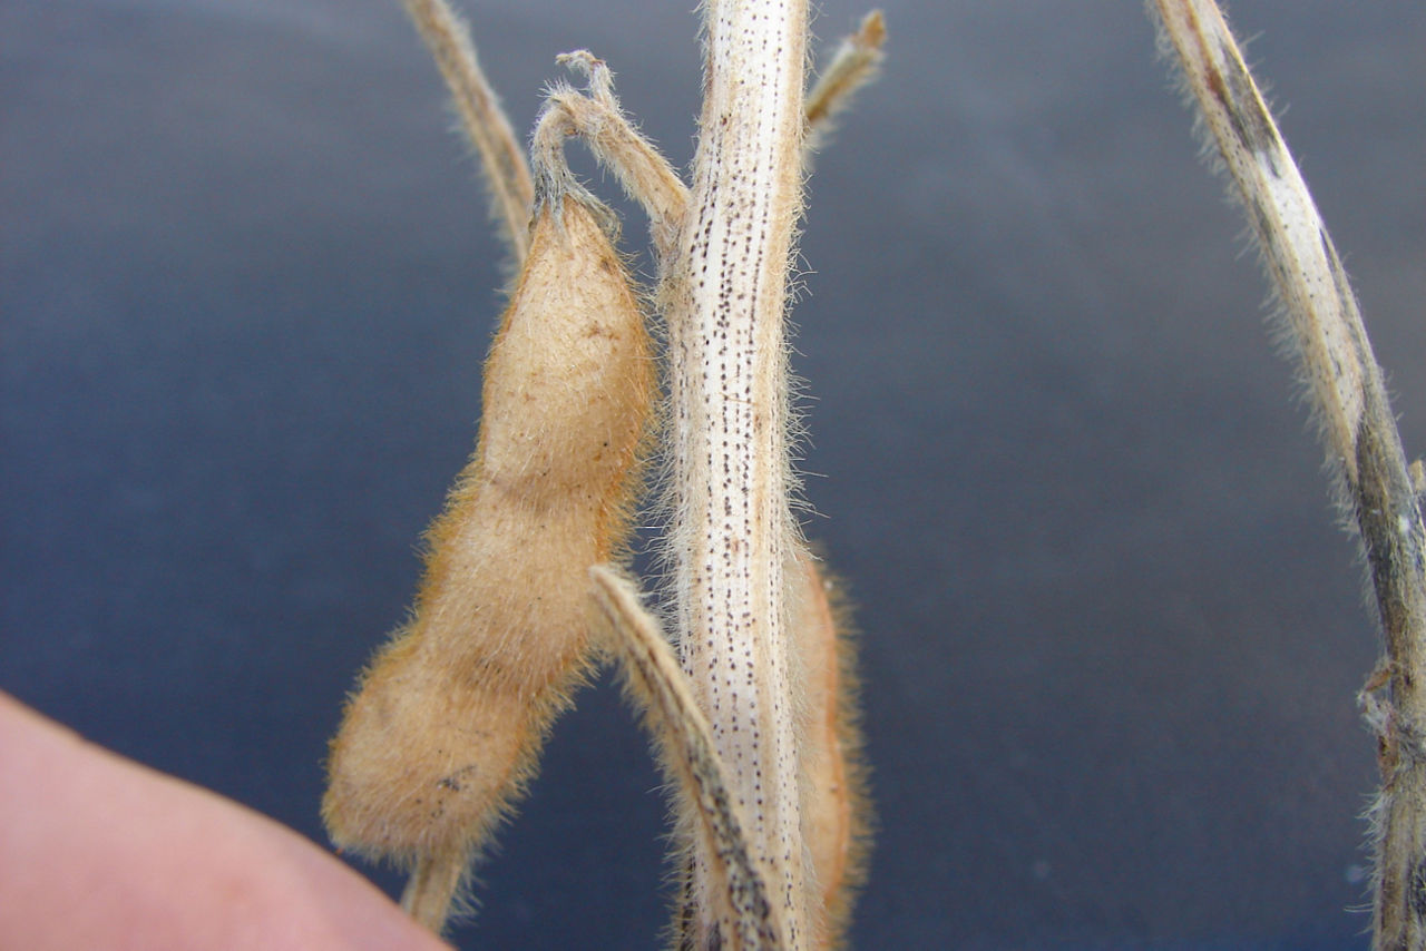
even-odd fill
[{"label": "curved dry stem with dark blotches at far right", "polygon": [[[1365,692],[1382,767],[1373,948],[1423,948],[1426,529],[1400,435],[1342,262],[1221,11],[1212,0],[1154,7],[1248,210],[1366,552],[1386,644]],[[1385,700],[1370,696],[1380,689]]]}]

